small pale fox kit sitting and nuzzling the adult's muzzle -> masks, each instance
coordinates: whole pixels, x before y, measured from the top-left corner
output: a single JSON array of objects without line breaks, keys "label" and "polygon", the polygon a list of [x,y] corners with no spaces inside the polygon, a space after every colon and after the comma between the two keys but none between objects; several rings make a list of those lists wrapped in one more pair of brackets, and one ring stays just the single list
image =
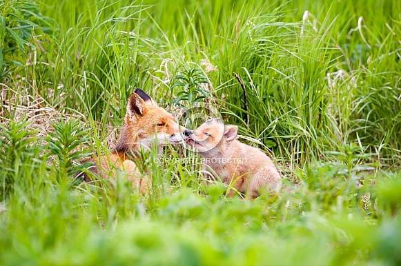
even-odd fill
[{"label": "small pale fox kit sitting and nuzzling the adult's muzzle", "polygon": [[[253,199],[260,189],[280,189],[282,180],[271,159],[256,147],[237,141],[238,127],[213,119],[197,130],[185,130],[185,142],[202,156],[202,170],[215,172],[222,182]],[[209,176],[210,177],[210,176]],[[231,197],[234,190],[228,192]]]}]

